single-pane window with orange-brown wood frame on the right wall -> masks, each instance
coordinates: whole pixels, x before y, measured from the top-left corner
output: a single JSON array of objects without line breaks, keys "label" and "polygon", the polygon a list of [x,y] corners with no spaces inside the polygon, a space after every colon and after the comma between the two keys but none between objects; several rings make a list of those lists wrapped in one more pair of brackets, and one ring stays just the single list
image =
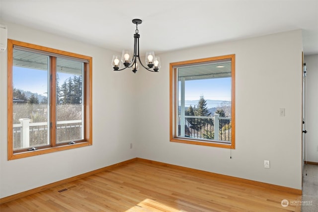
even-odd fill
[{"label": "single-pane window with orange-brown wood frame on the right wall", "polygon": [[170,64],[170,141],[235,148],[235,55]]}]

